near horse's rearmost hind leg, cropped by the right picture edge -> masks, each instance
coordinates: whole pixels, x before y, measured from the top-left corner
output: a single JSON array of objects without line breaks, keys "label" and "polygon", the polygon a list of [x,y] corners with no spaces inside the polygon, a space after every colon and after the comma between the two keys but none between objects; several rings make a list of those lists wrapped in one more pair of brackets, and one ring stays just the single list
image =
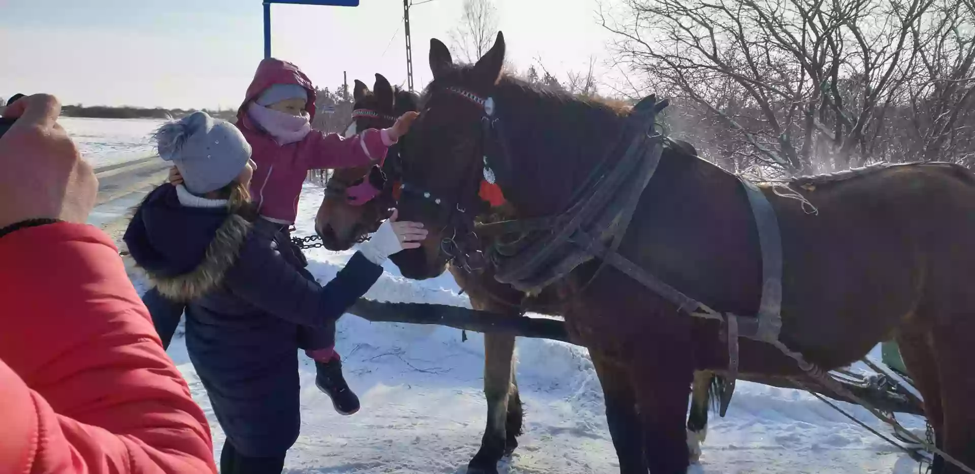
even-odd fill
[{"label": "near horse's rearmost hind leg, cropped by the right picture edge", "polygon": [[[968,365],[971,356],[971,335],[975,334],[975,321],[958,321],[950,327],[941,326],[931,331],[931,347],[938,364],[941,391],[943,427],[935,436],[941,449],[959,462],[975,468],[975,374]],[[927,396],[924,397],[925,404]],[[940,436],[939,436],[940,435]],[[943,474],[961,474],[963,471],[951,462],[943,462]]]}]

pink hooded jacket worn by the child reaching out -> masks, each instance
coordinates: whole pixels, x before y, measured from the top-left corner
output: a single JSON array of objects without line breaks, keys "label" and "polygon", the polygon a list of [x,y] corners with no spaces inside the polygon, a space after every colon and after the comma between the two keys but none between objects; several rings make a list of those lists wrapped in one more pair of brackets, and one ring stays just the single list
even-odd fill
[{"label": "pink hooded jacket worn by the child reaching out", "polygon": [[257,128],[248,117],[247,108],[272,84],[297,84],[308,91],[307,110],[315,119],[315,88],[300,69],[281,59],[264,59],[257,66],[247,99],[237,111],[237,128],[254,148],[257,164],[251,181],[251,195],[257,212],[270,220],[293,223],[297,215],[301,183],[309,170],[352,168],[368,165],[386,156],[393,144],[385,131],[365,130],[351,138],[312,130],[304,139],[280,145]]}]

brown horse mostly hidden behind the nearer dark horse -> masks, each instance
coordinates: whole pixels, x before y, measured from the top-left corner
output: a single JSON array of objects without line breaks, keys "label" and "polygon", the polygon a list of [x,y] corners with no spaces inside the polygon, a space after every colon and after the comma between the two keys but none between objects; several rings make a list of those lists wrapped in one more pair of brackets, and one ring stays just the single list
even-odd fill
[{"label": "brown horse mostly hidden behind the nearer dark horse", "polygon": [[[376,74],[373,90],[360,81],[355,82],[355,106],[353,125],[357,130],[384,128],[393,124],[395,117],[409,110],[416,110],[418,98],[408,91],[394,89],[381,75]],[[393,100],[389,98],[393,97]],[[407,138],[403,138],[409,140]],[[682,142],[691,153],[693,147]],[[395,150],[391,151],[395,154]],[[382,169],[385,180],[381,184],[370,183],[374,170],[365,167],[336,170],[327,183],[328,191],[319,208],[316,229],[331,251],[343,251],[365,239],[375,229],[385,210],[396,200],[396,189],[402,178],[402,162],[390,157]],[[352,186],[377,185],[380,189],[375,199],[366,203],[352,204],[345,191]],[[499,313],[524,313],[526,310],[556,314],[559,305],[552,295],[527,297],[510,285],[496,282],[490,273],[470,273],[456,267],[450,268],[454,279],[470,297],[477,309]],[[548,300],[546,300],[548,299]],[[487,426],[481,449],[471,461],[468,472],[496,472],[497,462],[511,454],[518,446],[517,436],[522,432],[523,408],[518,394],[518,383],[513,368],[515,337],[485,335],[485,395],[487,398]],[[597,363],[602,361],[597,360]],[[708,392],[712,387],[712,375],[700,373],[695,377],[690,415],[687,418],[688,443],[692,459],[700,454],[707,424]]]}]

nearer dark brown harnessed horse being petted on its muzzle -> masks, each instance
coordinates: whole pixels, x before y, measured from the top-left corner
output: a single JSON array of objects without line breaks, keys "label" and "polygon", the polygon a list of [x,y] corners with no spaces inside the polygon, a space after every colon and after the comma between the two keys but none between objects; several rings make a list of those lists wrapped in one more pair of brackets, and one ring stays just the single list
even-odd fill
[{"label": "nearer dark brown harnessed horse being petted on its muzzle", "polygon": [[[431,41],[434,80],[403,150],[409,167],[399,201],[400,215],[431,233],[422,248],[392,258],[408,278],[438,276],[449,260],[474,253],[470,232],[484,181],[496,180],[503,192],[504,218],[564,213],[624,126],[625,117],[601,103],[503,76],[503,60],[500,34],[473,65],[454,64],[443,43]],[[619,159],[610,156],[607,165]],[[975,178],[926,164],[788,184],[800,199],[761,186],[782,241],[778,340],[832,370],[896,336],[938,447],[975,465],[975,374],[964,362],[975,343]],[[668,146],[635,216],[619,255],[722,313],[757,314],[759,234],[737,177]],[[572,337],[600,361],[621,472],[683,473],[694,370],[728,364],[721,322],[688,316],[600,258],[542,296],[549,292]],[[743,373],[803,374],[764,342],[743,338],[739,355]],[[964,472],[940,460],[935,469]]]}]

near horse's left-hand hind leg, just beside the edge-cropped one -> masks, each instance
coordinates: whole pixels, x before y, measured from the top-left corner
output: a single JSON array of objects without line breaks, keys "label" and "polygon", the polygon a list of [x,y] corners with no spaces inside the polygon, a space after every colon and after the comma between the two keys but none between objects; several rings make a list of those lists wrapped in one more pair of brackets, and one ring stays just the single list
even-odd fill
[{"label": "near horse's left-hand hind leg, just beside the edge-cropped one", "polygon": [[[930,333],[917,328],[905,328],[898,333],[896,339],[908,374],[924,398],[924,415],[934,430],[935,446],[942,449],[945,415],[941,409],[941,383],[938,381],[938,365],[934,359],[934,348],[930,344]],[[942,474],[943,465],[944,459],[935,455],[931,464],[932,473]]]}]

